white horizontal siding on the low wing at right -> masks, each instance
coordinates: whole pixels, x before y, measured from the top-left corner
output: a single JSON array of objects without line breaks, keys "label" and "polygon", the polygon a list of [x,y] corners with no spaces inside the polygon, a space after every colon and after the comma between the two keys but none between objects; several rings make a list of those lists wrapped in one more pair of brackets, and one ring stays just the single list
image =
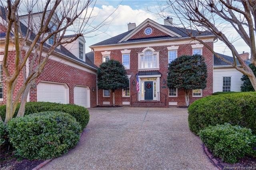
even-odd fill
[{"label": "white horizontal siding on the low wing at right", "polygon": [[213,70],[213,92],[222,92],[223,77],[231,77],[231,91],[239,92],[243,83],[242,73],[235,68],[214,68]]}]

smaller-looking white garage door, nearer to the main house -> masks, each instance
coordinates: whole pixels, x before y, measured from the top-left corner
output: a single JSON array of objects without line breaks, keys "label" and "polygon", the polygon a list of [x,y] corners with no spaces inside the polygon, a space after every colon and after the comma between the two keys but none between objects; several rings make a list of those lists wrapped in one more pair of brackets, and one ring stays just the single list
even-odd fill
[{"label": "smaller-looking white garage door, nearer to the main house", "polygon": [[74,87],[74,104],[90,107],[90,90],[88,87]]}]

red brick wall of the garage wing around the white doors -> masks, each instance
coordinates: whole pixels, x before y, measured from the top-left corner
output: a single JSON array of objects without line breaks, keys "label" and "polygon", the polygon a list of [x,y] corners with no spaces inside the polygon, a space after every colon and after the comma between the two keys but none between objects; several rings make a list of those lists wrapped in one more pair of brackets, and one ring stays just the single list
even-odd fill
[{"label": "red brick wall of the garage wing around the white doors", "polygon": [[[23,54],[25,51],[23,51]],[[0,52],[0,55],[3,55],[4,52]],[[31,55],[32,56],[32,55]],[[8,64],[10,68],[10,73],[14,71],[14,59],[15,59],[15,51],[9,51],[8,53]],[[5,74],[4,80],[6,79]],[[36,80],[36,85],[41,81],[47,82],[58,82],[65,83],[69,87],[69,102],[70,104],[74,103],[74,86],[88,86],[90,88],[90,106],[95,107],[96,104],[96,74],[92,74],[90,72],[86,72],[84,70],[80,70],[78,68],[74,68],[72,66],[59,63],[57,61],[48,60],[47,64],[42,72],[42,74]],[[23,76],[22,72],[18,78],[18,82],[16,88],[14,90],[14,97],[17,94],[18,90],[23,84]],[[92,88],[94,88],[94,92],[92,92]],[[4,97],[3,101],[0,104],[6,103],[6,83],[3,82],[3,92]],[[36,96],[36,87],[30,90],[30,101],[35,102],[37,100]]]}]

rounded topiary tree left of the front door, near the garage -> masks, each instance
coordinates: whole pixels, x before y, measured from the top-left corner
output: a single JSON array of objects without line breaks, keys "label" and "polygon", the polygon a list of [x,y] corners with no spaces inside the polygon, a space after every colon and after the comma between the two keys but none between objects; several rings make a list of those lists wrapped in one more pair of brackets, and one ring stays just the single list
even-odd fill
[{"label": "rounded topiary tree left of the front door, near the garage", "polygon": [[124,66],[116,60],[109,60],[100,64],[97,70],[98,88],[113,92],[113,106],[115,106],[115,90],[129,86],[129,79]]}]

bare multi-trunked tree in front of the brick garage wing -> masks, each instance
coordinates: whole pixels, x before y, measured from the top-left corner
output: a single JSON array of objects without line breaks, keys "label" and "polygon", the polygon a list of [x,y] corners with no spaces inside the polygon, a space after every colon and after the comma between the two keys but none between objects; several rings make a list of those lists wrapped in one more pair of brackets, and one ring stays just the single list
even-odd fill
[{"label": "bare multi-trunked tree in front of the brick garage wing", "polygon": [[[92,11],[95,6],[93,0],[7,0],[7,3],[3,4],[1,1],[1,4],[5,6],[1,17],[6,28],[2,67],[6,76],[6,118],[4,122],[7,123],[14,116],[19,102],[20,108],[17,116],[24,115],[30,88],[42,73],[50,55],[55,53],[61,45],[71,43],[78,37],[106,25],[108,17],[92,26],[92,21],[94,21]],[[26,20],[20,16],[24,7],[27,13]],[[33,13],[35,9],[41,11],[40,15]],[[69,30],[72,30],[75,36],[64,39],[65,33]],[[46,43],[49,39],[52,41],[50,45]],[[11,44],[15,47],[14,61],[8,61]],[[8,62],[14,62],[14,71],[11,70]],[[26,72],[26,65],[28,72]],[[14,96],[14,89],[21,74],[23,84]]]}]

